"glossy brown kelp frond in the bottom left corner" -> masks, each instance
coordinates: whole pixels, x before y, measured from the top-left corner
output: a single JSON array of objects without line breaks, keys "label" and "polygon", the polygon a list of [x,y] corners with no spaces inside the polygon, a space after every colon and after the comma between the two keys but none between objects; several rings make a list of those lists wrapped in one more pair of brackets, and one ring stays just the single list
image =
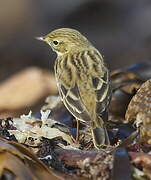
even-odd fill
[{"label": "glossy brown kelp frond in the bottom left corner", "polygon": [[60,179],[21,144],[0,139],[0,159],[0,177],[9,172],[19,180]]}]

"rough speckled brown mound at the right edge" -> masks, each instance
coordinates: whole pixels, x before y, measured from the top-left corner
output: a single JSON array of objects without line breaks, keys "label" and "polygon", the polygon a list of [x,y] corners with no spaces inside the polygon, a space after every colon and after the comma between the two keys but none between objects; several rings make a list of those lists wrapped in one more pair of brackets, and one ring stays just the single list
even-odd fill
[{"label": "rough speckled brown mound at the right edge", "polygon": [[126,120],[140,125],[141,141],[151,144],[151,79],[146,81],[132,98]]}]

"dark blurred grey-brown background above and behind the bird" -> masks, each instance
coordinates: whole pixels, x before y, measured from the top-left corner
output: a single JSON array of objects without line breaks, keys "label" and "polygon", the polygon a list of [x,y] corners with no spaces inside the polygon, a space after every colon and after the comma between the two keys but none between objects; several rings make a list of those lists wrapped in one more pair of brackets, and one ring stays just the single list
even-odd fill
[{"label": "dark blurred grey-brown background above and behind the bird", "polygon": [[1,0],[0,81],[25,67],[53,71],[55,53],[36,36],[83,33],[113,70],[151,58],[150,0]]}]

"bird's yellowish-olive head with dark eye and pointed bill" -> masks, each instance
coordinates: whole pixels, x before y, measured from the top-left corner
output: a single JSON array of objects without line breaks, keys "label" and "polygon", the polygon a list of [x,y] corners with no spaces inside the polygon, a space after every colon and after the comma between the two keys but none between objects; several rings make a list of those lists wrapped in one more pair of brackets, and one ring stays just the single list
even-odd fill
[{"label": "bird's yellowish-olive head with dark eye and pointed bill", "polygon": [[56,29],[46,36],[36,38],[49,44],[58,55],[74,53],[79,49],[88,48],[91,44],[80,32],[74,29]]}]

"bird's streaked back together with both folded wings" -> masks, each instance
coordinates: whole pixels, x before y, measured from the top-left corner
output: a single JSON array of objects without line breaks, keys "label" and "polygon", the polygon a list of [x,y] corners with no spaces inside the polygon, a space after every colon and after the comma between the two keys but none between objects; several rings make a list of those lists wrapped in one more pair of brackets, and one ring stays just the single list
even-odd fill
[{"label": "bird's streaked back together with both folded wings", "polygon": [[[68,60],[70,60],[70,63]],[[74,72],[74,70],[76,72]],[[106,110],[110,98],[109,73],[98,51],[95,49],[91,51],[88,50],[80,52],[72,58],[66,58],[65,62],[60,61],[60,64],[56,64],[55,72],[57,72],[56,77],[60,96],[66,108],[77,119],[87,122],[92,121],[92,112],[90,113],[90,104],[92,101],[92,104],[96,103],[92,108],[94,108],[93,111],[97,114],[101,114]],[[88,78],[86,78],[86,80],[84,79],[85,83],[88,84],[86,90],[83,88],[83,79],[80,80],[81,85],[77,84],[82,74],[81,72],[84,72],[83,76],[85,76],[85,78],[89,76],[88,82]],[[77,76],[74,76],[75,74]],[[92,84],[90,83],[90,79]],[[91,92],[93,93],[94,99],[92,98]]]}]

